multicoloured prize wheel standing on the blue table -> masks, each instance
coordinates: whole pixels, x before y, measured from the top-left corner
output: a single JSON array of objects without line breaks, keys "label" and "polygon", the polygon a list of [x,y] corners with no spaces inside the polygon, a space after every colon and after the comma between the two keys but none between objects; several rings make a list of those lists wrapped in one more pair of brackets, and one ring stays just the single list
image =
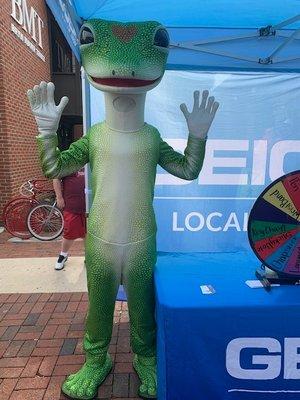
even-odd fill
[{"label": "multicoloured prize wheel standing on the blue table", "polygon": [[249,216],[248,237],[265,266],[300,278],[300,171],[277,179],[258,197]]}]

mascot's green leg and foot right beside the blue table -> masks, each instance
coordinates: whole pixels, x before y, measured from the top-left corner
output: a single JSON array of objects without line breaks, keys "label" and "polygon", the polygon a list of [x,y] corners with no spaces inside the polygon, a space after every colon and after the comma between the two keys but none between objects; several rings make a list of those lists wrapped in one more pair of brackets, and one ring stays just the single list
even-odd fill
[{"label": "mascot's green leg and foot right beside the blue table", "polygon": [[134,368],[141,380],[139,394],[156,397],[156,324],[154,297],[155,236],[130,245],[126,251],[123,283],[130,318],[130,342]]}]

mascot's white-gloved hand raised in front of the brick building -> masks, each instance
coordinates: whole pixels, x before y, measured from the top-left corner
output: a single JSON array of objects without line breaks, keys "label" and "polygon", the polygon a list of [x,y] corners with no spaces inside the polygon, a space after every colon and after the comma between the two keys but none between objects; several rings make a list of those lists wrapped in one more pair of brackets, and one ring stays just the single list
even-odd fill
[{"label": "mascot's white-gloved hand raised in front of the brick building", "polygon": [[35,117],[38,131],[41,135],[56,134],[61,114],[68,104],[64,96],[58,106],[54,102],[54,83],[42,81],[33,90],[27,91],[31,111]]}]

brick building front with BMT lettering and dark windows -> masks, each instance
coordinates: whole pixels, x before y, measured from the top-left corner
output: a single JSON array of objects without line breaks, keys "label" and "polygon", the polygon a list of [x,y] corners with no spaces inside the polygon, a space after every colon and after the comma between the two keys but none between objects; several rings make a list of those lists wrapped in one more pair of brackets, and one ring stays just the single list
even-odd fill
[{"label": "brick building front with BMT lettering and dark windows", "polygon": [[[2,0],[0,16],[0,215],[21,184],[40,178],[37,127],[26,91],[42,80],[67,95],[59,142],[81,131],[80,67],[44,0]],[[0,217],[1,220],[1,217]]]}]

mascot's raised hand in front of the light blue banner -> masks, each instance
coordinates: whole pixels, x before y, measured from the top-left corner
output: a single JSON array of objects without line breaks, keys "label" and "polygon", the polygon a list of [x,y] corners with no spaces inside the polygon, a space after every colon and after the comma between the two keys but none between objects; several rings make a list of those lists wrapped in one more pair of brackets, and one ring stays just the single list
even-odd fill
[{"label": "mascot's raised hand in front of the light blue banner", "polygon": [[209,128],[214,120],[219,103],[215,98],[208,97],[208,90],[202,93],[202,101],[199,105],[199,90],[194,92],[194,106],[192,112],[188,112],[186,104],[181,104],[180,109],[185,116],[189,133],[199,139],[206,139]]}]

